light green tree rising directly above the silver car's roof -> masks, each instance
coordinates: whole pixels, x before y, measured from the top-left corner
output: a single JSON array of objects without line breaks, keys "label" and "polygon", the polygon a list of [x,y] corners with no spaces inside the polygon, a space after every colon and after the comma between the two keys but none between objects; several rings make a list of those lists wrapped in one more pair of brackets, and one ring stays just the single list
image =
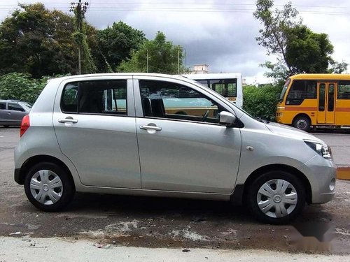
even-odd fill
[{"label": "light green tree rising directly above the silver car's roof", "polygon": [[148,72],[150,73],[176,74],[178,69],[182,73],[186,71],[182,60],[183,51],[181,46],[167,41],[165,34],[158,31],[155,39],[146,41],[140,50],[132,52],[131,58],[124,60],[118,67],[118,71],[147,72],[148,64]]}]

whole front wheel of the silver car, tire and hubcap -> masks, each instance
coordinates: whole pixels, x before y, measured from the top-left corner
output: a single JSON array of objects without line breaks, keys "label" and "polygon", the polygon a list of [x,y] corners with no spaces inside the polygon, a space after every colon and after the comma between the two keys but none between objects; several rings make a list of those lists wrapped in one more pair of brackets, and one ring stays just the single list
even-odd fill
[{"label": "whole front wheel of the silver car, tire and hubcap", "polygon": [[267,224],[287,224],[305,205],[305,189],[300,180],[285,171],[260,175],[248,187],[248,208]]}]

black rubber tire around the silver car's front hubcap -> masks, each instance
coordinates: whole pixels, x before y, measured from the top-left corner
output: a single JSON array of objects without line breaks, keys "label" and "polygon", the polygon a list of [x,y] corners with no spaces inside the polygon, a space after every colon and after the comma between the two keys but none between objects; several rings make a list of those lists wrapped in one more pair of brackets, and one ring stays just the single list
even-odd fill
[{"label": "black rubber tire around the silver car's front hubcap", "polygon": [[[266,213],[262,212],[262,210],[260,210],[258,206],[258,201],[260,203],[267,201],[268,197],[263,196],[263,194],[260,194],[259,190],[262,187],[262,185],[269,184],[269,183],[272,183],[271,188],[273,189],[274,188],[273,183],[275,180],[279,180],[280,182],[281,180],[284,180],[290,183],[290,185],[295,189],[295,191],[294,189],[291,189],[290,186],[288,186],[288,188],[284,191],[284,193],[272,194],[272,196],[274,196],[273,198],[270,198],[272,200],[271,201],[272,207],[271,208],[267,207],[268,211]],[[284,184],[287,184],[287,183],[284,183]],[[297,194],[296,195],[297,198],[295,200],[296,204],[290,205],[289,203],[284,203],[285,196],[286,195],[291,196],[292,193],[293,193],[293,198],[295,198],[294,193]],[[263,199],[262,197],[264,197],[265,199]],[[279,202],[275,202],[275,201],[279,201]],[[251,214],[253,214],[254,217],[256,217],[256,219],[266,224],[290,223],[290,221],[293,221],[293,219],[295,219],[300,214],[300,212],[302,212],[302,210],[304,209],[305,201],[306,201],[305,188],[302,182],[297,177],[295,177],[295,175],[292,175],[286,171],[281,171],[281,170],[269,171],[257,177],[248,186],[248,191],[246,194],[246,203],[248,204],[249,211],[251,212]],[[263,205],[267,205],[265,203]],[[281,214],[281,217],[272,217],[274,215],[277,216],[277,213],[278,213],[278,210],[276,210],[273,205],[275,206],[283,205],[283,207],[285,208],[288,214],[283,215],[281,212],[279,212],[279,214]]]}]

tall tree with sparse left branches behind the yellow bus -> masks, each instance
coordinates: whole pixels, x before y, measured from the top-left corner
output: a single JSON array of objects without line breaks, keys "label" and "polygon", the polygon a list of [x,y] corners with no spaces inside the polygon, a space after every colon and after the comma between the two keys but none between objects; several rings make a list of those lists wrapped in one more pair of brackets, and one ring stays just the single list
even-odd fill
[{"label": "tall tree with sparse left branches behind the yellow bus", "polygon": [[346,70],[344,61],[337,63],[330,56],[333,47],[328,35],[316,34],[303,25],[290,2],[282,10],[272,10],[273,7],[273,0],[258,0],[253,13],[263,26],[256,41],[266,48],[267,55],[277,57],[276,64],[270,61],[262,64],[270,70],[267,76],[283,82],[295,73],[342,73]]}]

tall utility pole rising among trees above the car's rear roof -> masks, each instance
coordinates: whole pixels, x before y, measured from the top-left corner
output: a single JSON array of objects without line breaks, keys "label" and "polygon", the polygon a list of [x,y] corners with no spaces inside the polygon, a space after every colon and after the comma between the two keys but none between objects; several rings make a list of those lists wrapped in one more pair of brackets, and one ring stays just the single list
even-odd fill
[{"label": "tall utility pole rising among trees above the car's rear roof", "polygon": [[[73,12],[76,16],[76,31],[80,34],[83,34],[83,19],[87,11],[87,6],[89,3],[81,3],[81,0],[78,2],[71,2],[70,12]],[[78,43],[78,74],[81,74],[81,49],[82,49],[82,39],[79,39]]]}]

